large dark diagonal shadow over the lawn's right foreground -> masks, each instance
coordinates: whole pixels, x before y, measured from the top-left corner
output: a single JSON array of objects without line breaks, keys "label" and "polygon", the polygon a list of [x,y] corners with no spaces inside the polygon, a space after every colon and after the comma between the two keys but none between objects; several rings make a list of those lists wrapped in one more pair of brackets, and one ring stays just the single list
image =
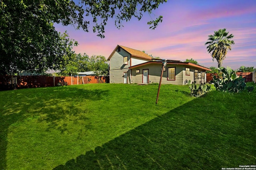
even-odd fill
[{"label": "large dark diagonal shadow over the lawn's right foreground", "polygon": [[[210,92],[69,160],[54,170],[208,169],[256,164],[256,110]],[[221,94],[222,95],[222,94]],[[231,96],[231,97],[230,97]],[[209,108],[202,107],[208,102]],[[205,106],[205,105],[204,105]],[[230,111],[233,108],[233,111]]]}]

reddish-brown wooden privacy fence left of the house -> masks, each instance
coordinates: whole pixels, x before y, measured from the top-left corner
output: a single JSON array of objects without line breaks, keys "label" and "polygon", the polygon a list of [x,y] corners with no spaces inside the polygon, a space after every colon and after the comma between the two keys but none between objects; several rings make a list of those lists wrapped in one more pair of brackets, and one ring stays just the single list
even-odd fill
[{"label": "reddish-brown wooden privacy fence left of the house", "polygon": [[[109,82],[102,76],[100,83]],[[96,76],[0,76],[0,90],[98,83]]]}]

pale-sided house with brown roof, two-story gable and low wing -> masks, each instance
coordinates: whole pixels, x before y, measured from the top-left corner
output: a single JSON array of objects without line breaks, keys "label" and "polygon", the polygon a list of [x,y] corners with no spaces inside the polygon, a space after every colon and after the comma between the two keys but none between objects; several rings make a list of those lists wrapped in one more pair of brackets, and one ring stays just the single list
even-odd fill
[{"label": "pale-sided house with brown roof, two-story gable and low wing", "polygon": [[[152,59],[142,51],[117,45],[108,57],[110,61],[110,83],[159,83],[162,72],[161,59]],[[162,84],[186,84],[189,80],[206,82],[206,71],[201,65],[166,60]]]}]

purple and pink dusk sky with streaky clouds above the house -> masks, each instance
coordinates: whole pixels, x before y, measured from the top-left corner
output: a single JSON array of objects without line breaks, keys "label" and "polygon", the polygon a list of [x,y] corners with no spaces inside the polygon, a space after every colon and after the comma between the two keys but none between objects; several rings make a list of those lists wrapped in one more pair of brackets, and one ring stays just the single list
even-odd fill
[{"label": "purple and pink dusk sky with streaky clouds above the house", "polygon": [[[163,16],[163,21],[155,30],[149,29],[150,17]],[[161,59],[184,61],[194,59],[200,65],[218,67],[212,61],[204,43],[208,35],[218,29],[234,35],[235,44],[228,51],[222,66],[238,69],[240,66],[256,68],[256,0],[169,0],[161,4],[152,14],[144,14],[138,21],[123,22],[117,29],[114,19],[108,20],[105,38],[93,33],[76,30],[74,26],[54,25],[57,31],[67,30],[70,39],[78,41],[76,53],[103,55],[106,59],[116,45],[146,51]]]}]

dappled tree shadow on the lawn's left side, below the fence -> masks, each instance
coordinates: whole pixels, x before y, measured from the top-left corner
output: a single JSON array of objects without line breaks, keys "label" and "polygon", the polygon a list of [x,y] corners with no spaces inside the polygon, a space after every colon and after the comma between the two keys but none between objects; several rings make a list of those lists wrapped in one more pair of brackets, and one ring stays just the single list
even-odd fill
[{"label": "dappled tree shadow on the lawn's left side, below the fence", "polygon": [[[66,124],[62,123],[62,120],[68,119],[70,115],[73,121],[88,119],[79,114],[86,110],[76,108],[78,103],[97,101],[108,96],[108,90],[86,90],[76,87],[34,88],[1,93],[6,94],[6,102],[10,104],[6,106],[7,108],[0,108],[0,170],[6,169],[8,128],[11,125],[39,117],[38,121],[46,121],[48,124],[47,130],[55,128],[63,133],[66,131]],[[90,128],[90,125],[86,127]]]}]

